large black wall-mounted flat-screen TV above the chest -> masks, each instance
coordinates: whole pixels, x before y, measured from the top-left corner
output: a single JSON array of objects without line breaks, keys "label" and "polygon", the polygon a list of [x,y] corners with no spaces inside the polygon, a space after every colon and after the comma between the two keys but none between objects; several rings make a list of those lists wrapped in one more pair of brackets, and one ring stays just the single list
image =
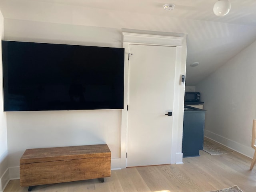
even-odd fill
[{"label": "large black wall-mounted flat-screen TV above the chest", "polygon": [[124,48],[2,40],[4,111],[124,108]]}]

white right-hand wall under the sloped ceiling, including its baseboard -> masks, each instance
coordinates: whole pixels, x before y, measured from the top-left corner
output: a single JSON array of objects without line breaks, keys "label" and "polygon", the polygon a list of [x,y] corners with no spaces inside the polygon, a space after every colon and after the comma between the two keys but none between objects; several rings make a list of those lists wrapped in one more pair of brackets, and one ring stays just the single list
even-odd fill
[{"label": "white right-hand wall under the sloped ceiling, including its baseboard", "polygon": [[250,157],[256,118],[255,50],[253,42],[196,86],[208,111],[205,135]]}]

